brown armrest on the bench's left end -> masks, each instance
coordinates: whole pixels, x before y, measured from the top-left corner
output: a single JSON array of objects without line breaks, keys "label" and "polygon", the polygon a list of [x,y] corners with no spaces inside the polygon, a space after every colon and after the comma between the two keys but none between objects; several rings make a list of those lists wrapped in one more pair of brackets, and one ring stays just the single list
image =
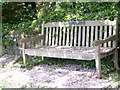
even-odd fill
[{"label": "brown armrest on the bench's left end", "polygon": [[29,41],[39,41],[39,40],[43,40],[44,39],[44,35],[38,35],[38,36],[35,36],[35,37],[32,37],[32,38],[22,38],[20,39],[19,43],[26,43],[26,42],[29,42]]}]

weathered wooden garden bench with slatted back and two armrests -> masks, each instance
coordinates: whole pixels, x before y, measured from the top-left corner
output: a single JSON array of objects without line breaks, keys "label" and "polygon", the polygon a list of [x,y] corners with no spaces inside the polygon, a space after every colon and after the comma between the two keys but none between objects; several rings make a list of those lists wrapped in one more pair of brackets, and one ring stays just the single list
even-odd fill
[{"label": "weathered wooden garden bench with slatted back and two armrests", "polygon": [[[26,55],[95,60],[98,77],[101,77],[101,58],[113,54],[114,64],[118,65],[117,24],[117,19],[43,22],[40,35],[20,40],[23,61],[26,63]],[[34,48],[26,48],[26,44],[32,43]]]}]

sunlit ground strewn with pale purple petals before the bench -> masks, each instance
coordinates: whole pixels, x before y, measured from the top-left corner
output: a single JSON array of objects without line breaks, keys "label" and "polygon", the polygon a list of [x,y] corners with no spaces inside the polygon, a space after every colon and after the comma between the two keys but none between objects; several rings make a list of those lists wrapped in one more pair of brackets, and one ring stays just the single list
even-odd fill
[{"label": "sunlit ground strewn with pale purple petals before the bench", "polygon": [[[2,57],[0,60],[14,59]],[[18,63],[0,68],[0,88],[114,88],[118,82],[97,79],[96,71],[80,65],[39,64],[27,70]],[[114,83],[114,84],[113,84]]]}]

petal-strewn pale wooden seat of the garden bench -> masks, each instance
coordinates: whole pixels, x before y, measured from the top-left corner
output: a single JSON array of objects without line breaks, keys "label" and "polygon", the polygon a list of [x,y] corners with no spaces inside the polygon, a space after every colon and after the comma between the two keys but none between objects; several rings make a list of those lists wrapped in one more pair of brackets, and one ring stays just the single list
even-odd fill
[{"label": "petal-strewn pale wooden seat of the garden bench", "polygon": [[[41,48],[25,49],[29,56],[45,56],[67,59],[94,60],[95,47],[77,47],[77,46],[42,46]],[[101,56],[105,57],[112,54],[114,48],[101,47]],[[110,53],[111,52],[111,53]]]}]

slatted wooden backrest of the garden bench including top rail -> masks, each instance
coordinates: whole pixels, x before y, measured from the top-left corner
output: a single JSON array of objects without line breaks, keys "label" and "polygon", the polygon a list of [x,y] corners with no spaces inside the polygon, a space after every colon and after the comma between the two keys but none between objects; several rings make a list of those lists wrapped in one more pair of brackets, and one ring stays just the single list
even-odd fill
[{"label": "slatted wooden backrest of the garden bench including top rail", "polygon": [[[48,22],[42,24],[44,45],[92,47],[94,40],[117,34],[117,20]],[[102,45],[112,47],[110,41]]]}]

